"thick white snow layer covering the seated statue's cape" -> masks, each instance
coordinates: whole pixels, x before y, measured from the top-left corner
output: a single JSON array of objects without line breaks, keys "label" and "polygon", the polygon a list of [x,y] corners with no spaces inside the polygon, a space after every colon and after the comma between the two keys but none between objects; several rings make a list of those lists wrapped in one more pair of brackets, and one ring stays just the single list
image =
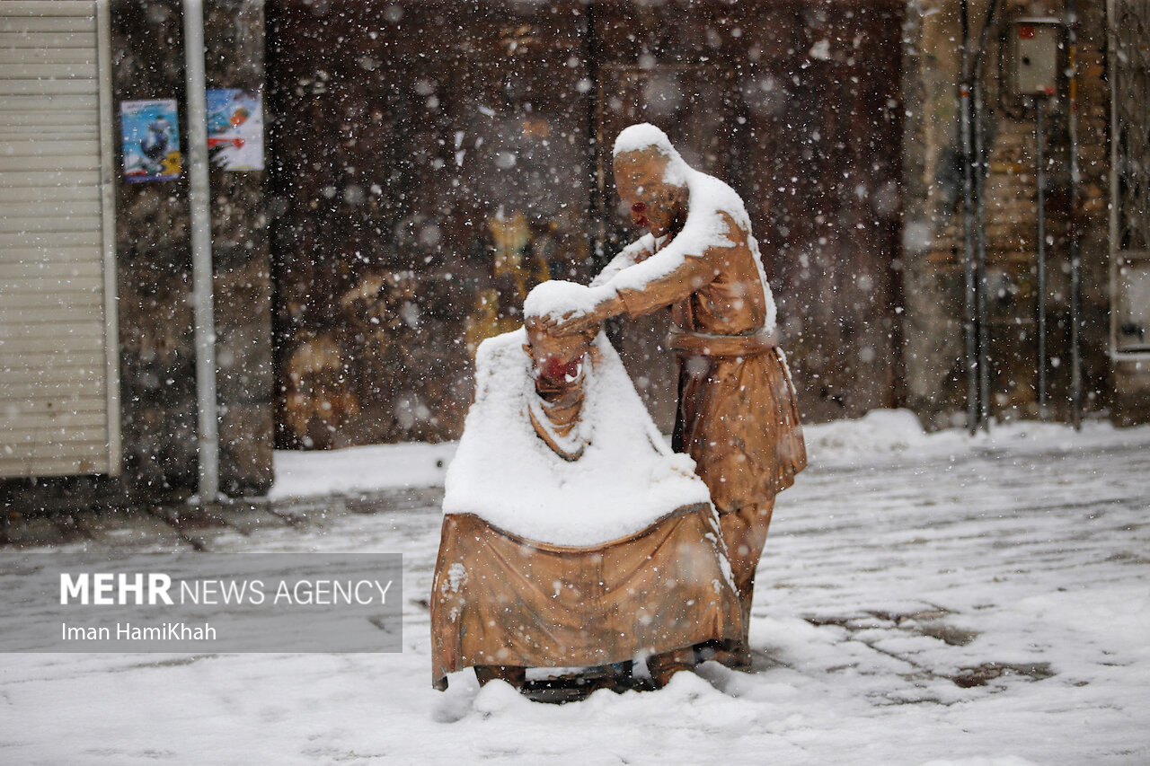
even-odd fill
[{"label": "thick white snow layer covering the seated statue's cape", "polygon": [[444,483],[445,514],[471,513],[553,545],[591,546],[635,534],[673,511],[708,503],[690,458],[676,454],[600,334],[583,367],[582,457],[564,460],[528,415],[535,393],[520,329],[484,340],[475,403]]}]

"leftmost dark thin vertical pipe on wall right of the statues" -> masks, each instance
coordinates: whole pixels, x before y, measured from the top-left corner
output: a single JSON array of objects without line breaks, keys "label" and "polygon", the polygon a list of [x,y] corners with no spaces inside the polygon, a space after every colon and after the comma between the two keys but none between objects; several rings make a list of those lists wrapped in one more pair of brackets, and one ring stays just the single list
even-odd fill
[{"label": "leftmost dark thin vertical pipe on wall right of the statues", "polygon": [[967,0],[961,0],[963,79],[958,85],[960,140],[963,143],[963,256],[966,283],[966,427],[971,435],[979,427],[979,361],[975,330],[977,285],[974,273],[974,181],[971,156],[971,28]]}]

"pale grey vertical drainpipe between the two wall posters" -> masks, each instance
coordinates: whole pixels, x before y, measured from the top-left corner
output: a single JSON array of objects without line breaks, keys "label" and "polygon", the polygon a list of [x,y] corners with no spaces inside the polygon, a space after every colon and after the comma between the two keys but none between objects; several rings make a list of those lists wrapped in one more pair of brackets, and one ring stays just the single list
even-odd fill
[{"label": "pale grey vertical drainpipe between the two wall posters", "polygon": [[208,121],[204,66],[204,0],[184,0],[187,77],[187,175],[192,220],[192,301],[195,312],[195,398],[199,405],[200,503],[220,495],[216,411],[215,309],[212,284],[212,216],[208,210]]}]

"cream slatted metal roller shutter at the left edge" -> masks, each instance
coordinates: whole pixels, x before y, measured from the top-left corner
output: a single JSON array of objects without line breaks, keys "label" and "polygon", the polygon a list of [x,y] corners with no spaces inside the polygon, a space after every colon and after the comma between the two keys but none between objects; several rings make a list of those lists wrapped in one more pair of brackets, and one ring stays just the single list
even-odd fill
[{"label": "cream slatted metal roller shutter at the left edge", "polygon": [[120,470],[107,13],[0,0],[0,477]]}]

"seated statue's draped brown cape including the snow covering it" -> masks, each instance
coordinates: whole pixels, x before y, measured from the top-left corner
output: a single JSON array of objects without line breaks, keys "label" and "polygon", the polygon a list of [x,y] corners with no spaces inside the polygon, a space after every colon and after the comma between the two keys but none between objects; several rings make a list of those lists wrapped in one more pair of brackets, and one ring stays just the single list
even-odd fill
[{"label": "seated statue's draped brown cape including the snow covering it", "polygon": [[[585,667],[742,635],[714,508],[599,336],[540,403],[523,331],[476,359],[431,593],[432,682],[469,666]],[[577,418],[572,408],[577,408]]]}]

